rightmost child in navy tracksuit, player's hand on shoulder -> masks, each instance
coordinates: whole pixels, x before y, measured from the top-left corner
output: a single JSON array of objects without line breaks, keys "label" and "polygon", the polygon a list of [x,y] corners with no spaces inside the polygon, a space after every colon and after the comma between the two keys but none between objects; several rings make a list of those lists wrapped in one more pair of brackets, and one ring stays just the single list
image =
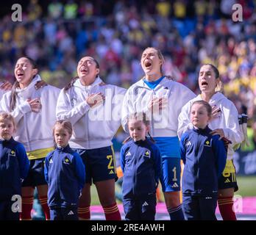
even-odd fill
[{"label": "rightmost child in navy tracksuit, player's hand on shoulder", "polygon": [[212,135],[207,126],[211,112],[206,101],[195,101],[191,106],[193,129],[182,134],[180,140],[186,220],[216,220],[218,177],[224,170],[227,150],[220,136]]}]

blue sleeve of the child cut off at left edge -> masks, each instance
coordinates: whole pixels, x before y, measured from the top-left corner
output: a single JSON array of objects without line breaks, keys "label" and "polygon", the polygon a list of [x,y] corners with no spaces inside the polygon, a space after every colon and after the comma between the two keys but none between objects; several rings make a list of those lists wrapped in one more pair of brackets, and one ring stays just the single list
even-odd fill
[{"label": "blue sleeve of the child cut off at left edge", "polygon": [[19,168],[21,170],[21,178],[24,179],[29,173],[29,159],[27,158],[24,145],[22,145],[21,143],[16,145],[16,152],[18,157]]}]

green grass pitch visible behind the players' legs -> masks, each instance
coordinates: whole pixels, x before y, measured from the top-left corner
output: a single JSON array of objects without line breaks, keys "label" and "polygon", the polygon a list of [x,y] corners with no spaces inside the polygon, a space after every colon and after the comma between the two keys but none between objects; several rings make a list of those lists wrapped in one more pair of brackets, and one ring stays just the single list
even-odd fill
[{"label": "green grass pitch visible behind the players' legs", "polygon": [[[256,176],[238,176],[237,181],[239,190],[238,192],[235,192],[235,195],[241,195],[242,197],[256,197]],[[118,188],[116,189],[119,191]],[[99,198],[94,184],[90,189],[90,193],[91,205],[99,205]]]}]

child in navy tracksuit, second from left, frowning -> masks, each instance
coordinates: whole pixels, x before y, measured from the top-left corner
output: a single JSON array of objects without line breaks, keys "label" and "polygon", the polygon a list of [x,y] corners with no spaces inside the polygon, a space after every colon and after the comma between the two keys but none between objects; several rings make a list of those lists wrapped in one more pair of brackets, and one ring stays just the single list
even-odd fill
[{"label": "child in navy tracksuit, second from left, frowning", "polygon": [[54,125],[57,148],[46,156],[45,177],[49,184],[48,205],[51,220],[78,220],[79,195],[85,185],[85,165],[68,145],[71,123],[58,120]]}]

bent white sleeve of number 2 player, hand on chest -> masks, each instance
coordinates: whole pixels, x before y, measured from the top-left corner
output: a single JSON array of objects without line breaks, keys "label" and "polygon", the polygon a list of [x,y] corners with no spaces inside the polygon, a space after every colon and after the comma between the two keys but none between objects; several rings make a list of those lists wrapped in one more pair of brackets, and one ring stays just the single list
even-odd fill
[{"label": "bent white sleeve of number 2 player, hand on chest", "polygon": [[77,104],[74,107],[71,106],[68,93],[66,93],[64,89],[60,91],[56,107],[57,120],[69,120],[71,124],[74,125],[86,112],[89,111],[89,109],[90,106],[86,101]]}]

